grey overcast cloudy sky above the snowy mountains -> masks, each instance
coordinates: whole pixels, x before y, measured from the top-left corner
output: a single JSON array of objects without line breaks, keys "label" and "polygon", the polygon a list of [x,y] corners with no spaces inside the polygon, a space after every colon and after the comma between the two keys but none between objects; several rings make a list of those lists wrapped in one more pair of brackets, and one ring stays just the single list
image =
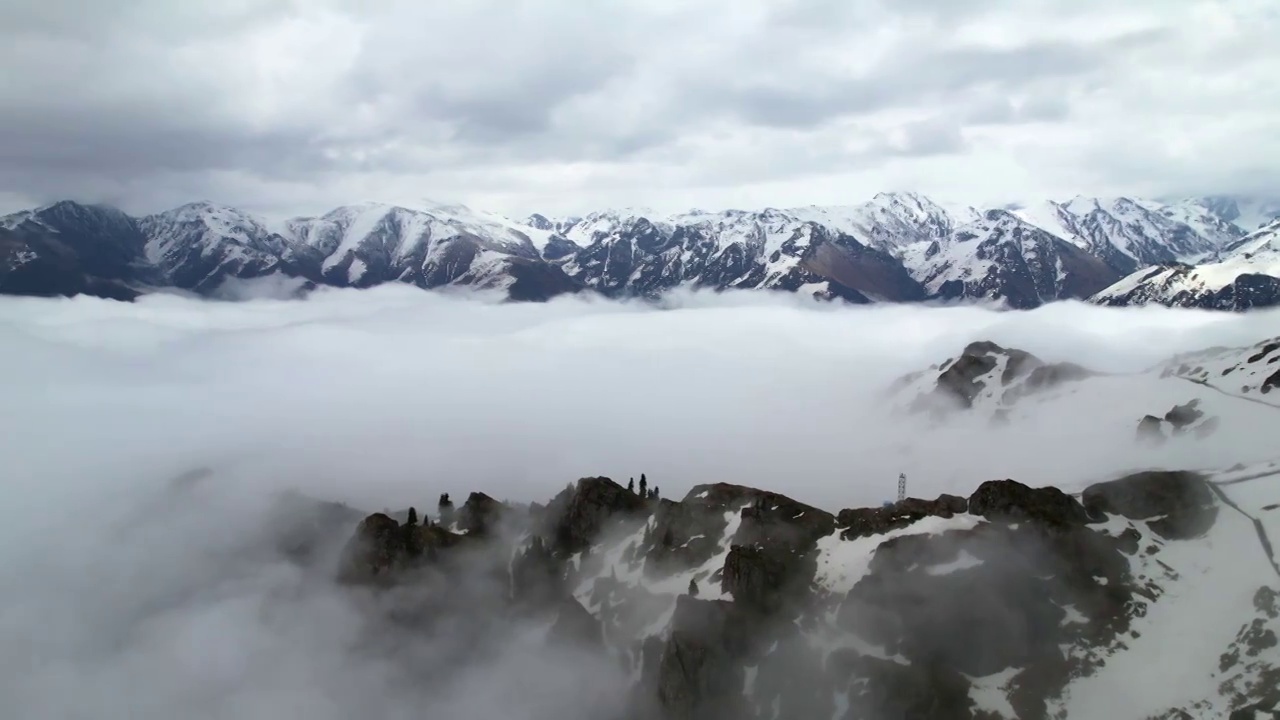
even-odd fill
[{"label": "grey overcast cloudy sky above the snowy mountains", "polygon": [[1277,187],[1272,0],[8,0],[0,210]]}]

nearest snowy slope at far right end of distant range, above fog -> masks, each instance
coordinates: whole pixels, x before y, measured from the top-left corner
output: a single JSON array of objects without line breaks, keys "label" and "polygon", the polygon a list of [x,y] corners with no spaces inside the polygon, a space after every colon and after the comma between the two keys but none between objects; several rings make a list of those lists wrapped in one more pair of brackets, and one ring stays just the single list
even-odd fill
[{"label": "nearest snowy slope at far right end of distant range, above fog", "polygon": [[1155,302],[1215,310],[1280,304],[1280,220],[1235,241],[1219,261],[1146,268],[1092,300],[1102,305]]}]

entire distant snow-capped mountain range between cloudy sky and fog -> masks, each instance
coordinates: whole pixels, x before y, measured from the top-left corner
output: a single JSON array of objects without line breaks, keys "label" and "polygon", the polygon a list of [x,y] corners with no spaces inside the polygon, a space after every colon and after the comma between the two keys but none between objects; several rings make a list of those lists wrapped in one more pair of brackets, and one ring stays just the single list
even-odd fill
[{"label": "entire distant snow-capped mountain range between cloudy sky and fog", "polygon": [[61,201],[0,218],[0,293],[236,297],[255,283],[305,292],[402,282],[512,300],[708,288],[1244,309],[1280,304],[1277,215],[1280,201],[1225,196],[975,209],[895,192],[845,206],[522,220],[365,202],[273,224],[211,202],[133,218]]}]

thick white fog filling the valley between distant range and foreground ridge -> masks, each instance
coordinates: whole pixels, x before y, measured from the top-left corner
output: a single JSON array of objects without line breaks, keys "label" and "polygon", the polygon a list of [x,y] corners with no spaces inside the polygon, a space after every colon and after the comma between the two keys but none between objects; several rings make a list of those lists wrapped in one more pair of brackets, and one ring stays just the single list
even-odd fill
[{"label": "thick white fog filling the valley between distant range and foreground ridge", "polygon": [[[4,299],[5,715],[572,717],[554,693],[460,688],[527,685],[536,667],[538,688],[570,697],[617,678],[513,641],[448,693],[428,692],[402,682],[401,651],[353,651],[364,625],[351,601],[256,544],[273,493],[434,510],[442,492],[545,501],[579,477],[643,471],[667,497],[723,480],[836,511],[890,497],[900,471],[932,497],[991,478],[1079,483],[1248,461],[1270,450],[1270,428],[1152,451],[1100,430],[1091,420],[1105,406],[1033,432],[928,430],[878,396],[974,340],[1123,373],[1277,328],[1275,311],[764,295],[686,295],[664,310],[399,287],[225,304]],[[175,500],[169,479],[198,466],[215,474]]]}]

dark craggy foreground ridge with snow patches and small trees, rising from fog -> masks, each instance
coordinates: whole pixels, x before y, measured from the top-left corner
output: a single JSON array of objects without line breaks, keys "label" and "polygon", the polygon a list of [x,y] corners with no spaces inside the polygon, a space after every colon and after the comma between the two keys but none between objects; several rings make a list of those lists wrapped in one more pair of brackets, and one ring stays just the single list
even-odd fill
[{"label": "dark craggy foreground ridge with snow patches and small trees, rising from fog", "polygon": [[[1248,484],[1277,479],[1266,468]],[[499,525],[370,515],[339,578],[376,592],[497,578],[485,607],[627,678],[594,716],[726,720],[1097,717],[1097,693],[1124,687],[1110,666],[1176,643],[1170,623],[1206,610],[1187,593],[1230,582],[1216,612],[1235,628],[1197,648],[1203,682],[1144,696],[1147,715],[1107,716],[1280,711],[1267,683],[1280,578],[1224,497],[1233,487],[1167,471],[1079,495],[1006,479],[831,514],[726,483],[672,501],[584,478],[545,506],[486,515]],[[1251,543],[1231,552],[1267,571],[1199,577],[1203,553],[1239,537]]]}]

